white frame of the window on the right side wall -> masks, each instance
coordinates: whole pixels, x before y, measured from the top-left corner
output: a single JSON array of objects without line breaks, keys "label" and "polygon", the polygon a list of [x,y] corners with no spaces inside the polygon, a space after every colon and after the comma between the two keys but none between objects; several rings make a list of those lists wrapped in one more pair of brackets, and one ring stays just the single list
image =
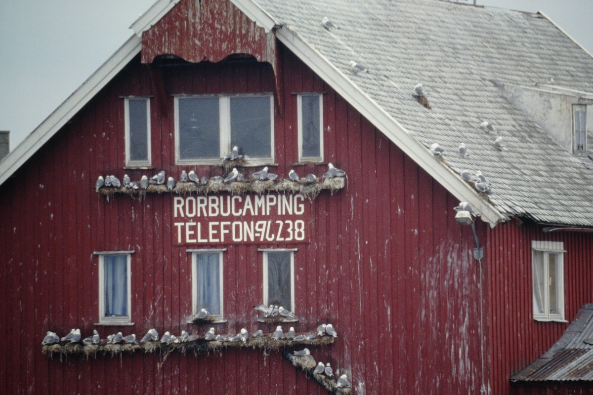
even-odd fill
[{"label": "white frame of the window on the right side wall", "polygon": [[536,313],[535,312],[535,306],[532,306],[533,309],[533,319],[536,321],[542,321],[542,322],[566,322],[565,320],[565,292],[564,292],[564,254],[565,254],[565,249],[564,249],[564,243],[563,242],[550,242],[550,241],[540,241],[540,240],[531,240],[531,287],[532,290],[531,292],[533,293],[534,290],[534,284],[535,284],[535,278],[534,278],[534,266],[536,264],[535,262],[535,252],[543,252],[543,262],[541,262],[541,264],[543,265],[543,277],[544,278],[549,278],[550,277],[550,273],[549,273],[549,263],[548,263],[548,259],[550,254],[555,254],[557,256],[557,261],[556,261],[556,272],[557,272],[557,278],[556,278],[556,283],[557,283],[557,288],[556,288],[556,293],[558,294],[560,301],[559,301],[559,306],[558,306],[558,310],[559,313],[556,314],[550,314],[550,296],[548,293],[548,287],[544,287],[543,289],[543,301],[544,301],[544,306],[543,306],[543,310],[544,313]]}]

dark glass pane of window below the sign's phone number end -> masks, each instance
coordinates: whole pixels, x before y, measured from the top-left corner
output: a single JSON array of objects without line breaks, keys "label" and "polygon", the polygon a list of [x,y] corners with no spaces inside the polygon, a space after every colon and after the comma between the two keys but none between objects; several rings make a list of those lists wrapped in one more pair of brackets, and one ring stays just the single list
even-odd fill
[{"label": "dark glass pane of window below the sign's phone number end", "polygon": [[291,310],[291,252],[267,253],[267,303]]}]

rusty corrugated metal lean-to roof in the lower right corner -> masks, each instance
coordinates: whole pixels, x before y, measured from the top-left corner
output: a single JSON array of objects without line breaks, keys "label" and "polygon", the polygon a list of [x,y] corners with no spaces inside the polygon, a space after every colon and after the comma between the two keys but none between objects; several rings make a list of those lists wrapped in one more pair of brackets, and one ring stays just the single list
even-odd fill
[{"label": "rusty corrugated metal lean-to roof in the lower right corner", "polygon": [[[562,337],[512,381],[593,381],[593,304],[585,304]],[[587,342],[585,342],[585,340]]]}]

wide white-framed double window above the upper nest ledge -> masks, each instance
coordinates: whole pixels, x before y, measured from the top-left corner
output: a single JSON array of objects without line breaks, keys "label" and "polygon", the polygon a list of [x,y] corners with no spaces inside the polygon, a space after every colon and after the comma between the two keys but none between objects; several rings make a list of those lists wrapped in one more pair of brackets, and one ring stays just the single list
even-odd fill
[{"label": "wide white-framed double window above the upper nest ledge", "polygon": [[253,165],[274,160],[272,95],[175,98],[177,163],[220,163],[232,147]]}]

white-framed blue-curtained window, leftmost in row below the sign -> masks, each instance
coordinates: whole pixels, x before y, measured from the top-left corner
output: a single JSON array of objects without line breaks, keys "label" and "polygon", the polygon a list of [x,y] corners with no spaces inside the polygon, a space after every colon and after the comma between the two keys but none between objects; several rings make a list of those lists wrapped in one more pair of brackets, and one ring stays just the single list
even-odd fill
[{"label": "white-framed blue-curtained window, leftmost in row below the sign", "polygon": [[99,256],[99,323],[120,325],[132,321],[132,252],[95,252]]}]

